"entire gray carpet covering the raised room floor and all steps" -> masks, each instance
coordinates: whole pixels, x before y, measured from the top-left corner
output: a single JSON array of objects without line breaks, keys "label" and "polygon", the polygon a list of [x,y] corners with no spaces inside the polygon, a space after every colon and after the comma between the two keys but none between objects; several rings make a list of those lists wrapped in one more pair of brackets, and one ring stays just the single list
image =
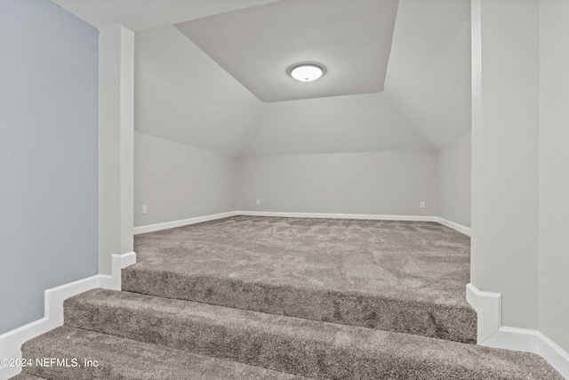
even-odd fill
[{"label": "entire gray carpet covering the raised room floor and all steps", "polygon": [[234,217],[135,249],[123,291],[68,298],[22,347],[100,365],[18,379],[563,379],[471,344],[469,239],[437,223]]}]

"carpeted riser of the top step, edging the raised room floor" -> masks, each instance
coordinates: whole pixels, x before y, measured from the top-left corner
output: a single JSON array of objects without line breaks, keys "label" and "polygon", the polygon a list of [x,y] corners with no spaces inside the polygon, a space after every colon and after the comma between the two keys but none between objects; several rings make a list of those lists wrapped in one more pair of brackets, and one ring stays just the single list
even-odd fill
[{"label": "carpeted riser of the top step, edging the raised room floor", "polygon": [[[161,284],[156,287],[156,284]],[[123,271],[123,290],[147,295],[268,312],[303,319],[477,343],[477,314],[443,306],[381,297],[271,287],[232,279],[185,277],[172,272]]]}]

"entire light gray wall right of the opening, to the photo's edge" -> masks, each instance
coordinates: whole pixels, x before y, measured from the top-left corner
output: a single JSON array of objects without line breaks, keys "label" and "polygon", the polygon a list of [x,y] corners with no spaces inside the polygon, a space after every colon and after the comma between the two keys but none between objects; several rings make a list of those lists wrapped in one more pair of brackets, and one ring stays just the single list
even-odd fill
[{"label": "entire light gray wall right of the opening, to the photo's edge", "polygon": [[569,4],[473,5],[471,280],[567,352]]}]

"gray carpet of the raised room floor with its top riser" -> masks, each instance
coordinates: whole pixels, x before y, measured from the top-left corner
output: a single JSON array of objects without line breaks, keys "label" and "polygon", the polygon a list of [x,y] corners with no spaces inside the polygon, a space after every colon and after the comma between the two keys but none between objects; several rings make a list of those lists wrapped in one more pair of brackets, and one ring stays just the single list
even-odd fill
[{"label": "gray carpet of the raised room floor with its top riser", "polygon": [[123,289],[475,344],[469,244],[433,222],[236,216],[137,236]]}]

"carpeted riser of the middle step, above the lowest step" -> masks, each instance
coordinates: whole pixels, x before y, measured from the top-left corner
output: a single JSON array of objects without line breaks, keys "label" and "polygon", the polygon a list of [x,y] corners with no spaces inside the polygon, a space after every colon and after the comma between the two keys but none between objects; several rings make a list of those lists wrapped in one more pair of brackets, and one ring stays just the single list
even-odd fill
[{"label": "carpeted riser of the middle step, above the lowest step", "polygon": [[[270,331],[255,328],[254,324],[246,328],[228,326],[213,323],[212,319],[180,318],[178,313],[156,309],[132,310],[127,306],[108,308],[71,299],[66,301],[65,320],[69,327],[166,345],[301,376],[330,379],[479,379],[488,375],[465,371],[445,360],[398,358],[378,349],[377,344],[355,345],[351,337],[347,342],[333,342],[320,339],[317,335],[299,336],[293,329],[283,334],[282,329]],[[341,338],[341,335],[338,337]],[[370,336],[362,336],[362,339],[369,340]]]}]

